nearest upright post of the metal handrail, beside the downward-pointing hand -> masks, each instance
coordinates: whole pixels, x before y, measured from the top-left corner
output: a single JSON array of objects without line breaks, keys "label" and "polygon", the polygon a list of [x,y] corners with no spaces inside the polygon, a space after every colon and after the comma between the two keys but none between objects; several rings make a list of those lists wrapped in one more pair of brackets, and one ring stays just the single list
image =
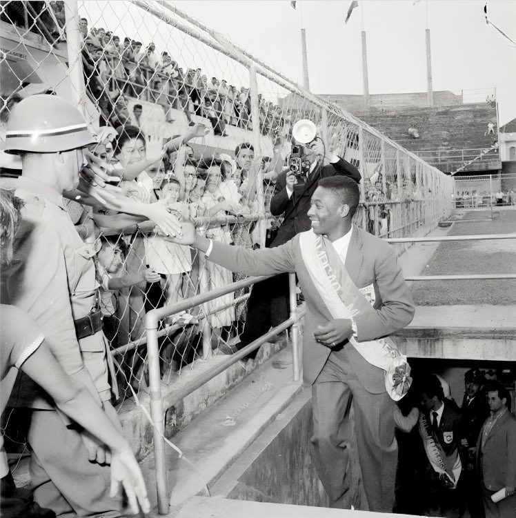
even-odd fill
[{"label": "nearest upright post of the metal handrail, beside the downward-pointing hand", "polygon": [[146,315],[147,361],[149,368],[150,417],[152,417],[152,436],[154,440],[154,462],[156,469],[156,488],[158,512],[168,514],[167,470],[165,462],[165,421],[163,399],[161,399],[161,374],[159,370],[159,350],[157,321],[152,321],[151,312]]}]

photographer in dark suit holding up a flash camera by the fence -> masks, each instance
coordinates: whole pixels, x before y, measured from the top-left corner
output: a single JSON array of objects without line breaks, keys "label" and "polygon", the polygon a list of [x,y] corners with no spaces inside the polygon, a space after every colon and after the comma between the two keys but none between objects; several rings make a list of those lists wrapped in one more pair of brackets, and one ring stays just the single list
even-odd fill
[{"label": "photographer in dark suit holding up a flash camera by the fence", "polygon": [[[272,215],[284,214],[284,221],[269,248],[280,246],[299,232],[310,230],[310,198],[317,188],[319,179],[342,175],[360,182],[361,175],[355,166],[333,153],[324,154],[325,148],[320,141],[312,141],[304,146],[303,156],[310,163],[307,177],[296,177],[290,170],[278,175],[274,196],[270,200]],[[324,165],[324,159],[330,163]],[[219,350],[232,354],[264,335],[271,327],[278,326],[288,319],[288,275],[266,279],[252,287],[248,299],[248,315],[244,331],[238,343],[231,346],[221,344]],[[250,354],[255,357],[256,351]]]}]

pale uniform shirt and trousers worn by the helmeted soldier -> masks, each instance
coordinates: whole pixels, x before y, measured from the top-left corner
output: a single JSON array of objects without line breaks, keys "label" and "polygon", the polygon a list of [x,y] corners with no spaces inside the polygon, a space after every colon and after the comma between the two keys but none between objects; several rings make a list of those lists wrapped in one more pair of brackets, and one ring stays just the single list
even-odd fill
[{"label": "pale uniform shirt and trousers worn by the helmeted soldier", "polygon": [[[13,183],[25,206],[12,267],[3,272],[3,302],[37,321],[63,370],[80,379],[100,405],[111,397],[111,357],[96,311],[95,250],[77,234],[57,191],[23,177]],[[58,516],[72,509],[79,515],[119,516],[117,502],[109,497],[109,468],[88,461],[79,432],[52,411],[50,397],[22,374],[9,406],[34,409],[28,432],[34,499]]]}]

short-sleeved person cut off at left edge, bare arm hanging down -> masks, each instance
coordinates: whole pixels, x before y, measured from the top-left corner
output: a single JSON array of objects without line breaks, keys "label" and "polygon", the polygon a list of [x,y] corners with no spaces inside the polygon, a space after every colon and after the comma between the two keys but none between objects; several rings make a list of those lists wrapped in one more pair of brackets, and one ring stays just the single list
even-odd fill
[{"label": "short-sleeved person cut off at left edge, bare arm hanging down", "polygon": [[[20,219],[21,201],[8,190],[0,190],[0,236],[1,266],[12,259],[12,248]],[[54,399],[57,408],[77,424],[98,437],[109,446],[112,454],[112,497],[121,486],[126,490],[131,512],[138,512],[138,503],[143,512],[150,510],[145,483],[132,450],[110,419],[101,410],[88,389],[79,381],[68,377],[45,343],[37,324],[23,310],[2,304],[1,318],[1,366],[2,407],[14,385],[17,370],[32,377]],[[0,442],[3,442],[0,437]],[[3,444],[2,444],[3,450]],[[10,478],[5,452],[0,460],[2,477],[2,515],[4,517],[30,517],[34,506],[23,498],[17,498]],[[72,467],[70,467],[72,469]],[[7,477],[6,480],[4,478]],[[6,498],[7,497],[7,498]],[[47,515],[51,516],[51,515]]]}]

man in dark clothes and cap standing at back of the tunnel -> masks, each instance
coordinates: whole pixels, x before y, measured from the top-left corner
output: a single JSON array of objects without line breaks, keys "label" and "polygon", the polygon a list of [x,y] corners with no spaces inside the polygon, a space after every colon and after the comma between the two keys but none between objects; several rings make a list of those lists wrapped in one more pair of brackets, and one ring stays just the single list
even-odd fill
[{"label": "man in dark clothes and cap standing at back of the tunnel", "polygon": [[482,392],[484,375],[478,369],[470,369],[464,375],[466,392],[462,399],[461,414],[464,424],[464,448],[467,448],[466,466],[459,481],[459,492],[462,494],[462,512],[468,508],[471,518],[484,518],[482,491],[478,474],[475,470],[475,451],[477,439],[482,425],[489,415],[486,395]]}]

